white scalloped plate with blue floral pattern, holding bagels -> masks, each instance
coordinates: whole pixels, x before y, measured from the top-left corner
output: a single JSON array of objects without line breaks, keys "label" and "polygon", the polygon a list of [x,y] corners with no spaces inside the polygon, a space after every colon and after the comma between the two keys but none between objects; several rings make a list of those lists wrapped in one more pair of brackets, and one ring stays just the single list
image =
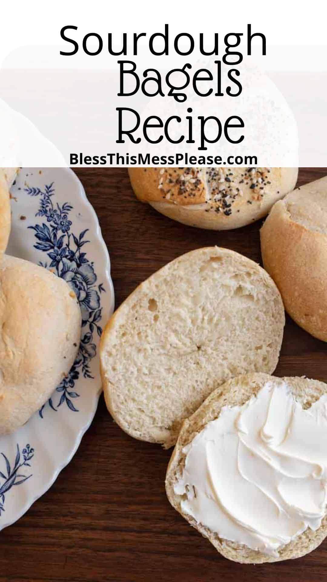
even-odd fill
[{"label": "white scalloped plate with blue floral pattern, holding bagels", "polygon": [[7,253],[54,271],[79,298],[79,355],[42,409],[0,437],[0,530],[19,519],[69,463],[97,409],[99,336],[113,311],[109,255],[97,216],[70,169],[23,168],[12,190]]}]

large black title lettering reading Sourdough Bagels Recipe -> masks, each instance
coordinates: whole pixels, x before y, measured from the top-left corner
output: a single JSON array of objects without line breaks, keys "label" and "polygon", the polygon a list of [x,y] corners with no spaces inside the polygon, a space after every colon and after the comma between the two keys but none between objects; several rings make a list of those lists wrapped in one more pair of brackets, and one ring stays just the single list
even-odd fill
[{"label": "large black title lettering reading Sourdough Bagels Recipe", "polygon": [[[69,44],[65,51],[60,51],[63,56],[73,56],[79,52],[80,44],[84,54],[97,56],[105,50],[102,36],[91,32],[84,34],[80,39],[77,26],[63,26],[61,38]],[[138,56],[138,41],[147,38],[145,32],[127,35],[122,33],[119,45],[114,44],[112,33],[106,38],[106,50],[112,56]],[[240,82],[240,70],[236,66],[243,61],[243,54],[251,55],[252,41],[259,37],[261,41],[261,54],[266,55],[265,35],[251,30],[251,24],[247,24],[245,33],[231,32],[223,36],[225,45],[221,56],[220,34],[214,33],[212,38],[205,38],[199,33],[197,42],[189,33],[180,33],[175,38],[169,37],[169,25],[165,24],[164,32],[155,32],[148,38],[148,51],[154,56],[190,56],[198,59],[201,55],[212,56],[208,68],[197,68],[186,62],[180,68],[170,69],[162,73],[155,68],[138,70],[134,61],[117,61],[119,66],[119,91],[118,97],[133,97],[141,91],[145,97],[170,98],[176,104],[184,104],[188,98],[196,96],[198,111],[187,107],[181,109],[182,115],[169,115],[162,119],[158,115],[147,115],[145,108],[144,118],[136,109],[130,107],[116,107],[118,119],[118,139],[116,143],[125,143],[128,140],[133,144],[140,144],[145,140],[151,144],[160,143],[163,139],[172,144],[180,144],[185,141],[195,144],[193,135],[197,133],[197,149],[207,150],[207,144],[217,143],[222,137],[231,144],[239,144],[244,140],[244,121],[240,115],[228,115],[226,119],[220,119],[215,115],[197,115],[205,106],[204,98],[211,97],[239,97],[243,87]],[[78,39],[78,40],[77,40]],[[142,42],[142,41],[141,41]],[[143,41],[144,43],[144,41]],[[143,47],[143,45],[142,45]],[[236,50],[239,48],[239,50]],[[243,52],[242,52],[243,51]],[[217,59],[216,57],[220,57]],[[165,61],[162,61],[165,63]],[[188,114],[188,115],[187,115]],[[176,124],[180,124],[180,133],[176,136]],[[179,127],[179,126],[177,126]],[[163,130],[161,132],[160,130]]]}]

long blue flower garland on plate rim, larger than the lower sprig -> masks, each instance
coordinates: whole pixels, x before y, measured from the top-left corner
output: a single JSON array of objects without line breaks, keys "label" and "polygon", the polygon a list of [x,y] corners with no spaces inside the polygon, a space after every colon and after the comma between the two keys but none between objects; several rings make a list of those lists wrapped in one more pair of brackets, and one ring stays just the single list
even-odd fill
[{"label": "long blue flower garland on plate rim, larger than the lower sprig", "polygon": [[[49,398],[48,401],[52,410],[56,411],[65,402],[70,410],[78,412],[72,399],[78,398],[79,394],[73,391],[73,388],[80,372],[84,378],[93,378],[90,372],[90,360],[97,354],[93,334],[97,332],[98,336],[101,336],[102,333],[98,322],[102,317],[100,294],[105,289],[102,283],[97,284],[94,264],[88,260],[87,253],[81,250],[90,242],[85,240],[88,229],[80,233],[72,232],[73,223],[69,220],[69,213],[73,210],[73,206],[68,202],[54,203],[54,182],[45,184],[42,190],[40,187],[28,186],[24,191],[29,196],[39,197],[40,204],[35,217],[47,220],[47,223],[42,222],[41,225],[28,226],[34,230],[34,236],[37,239],[34,249],[42,251],[50,259],[49,262],[40,261],[39,264],[52,269],[59,277],[65,279],[76,294],[81,308],[83,330],[79,353],[69,375],[63,378],[56,389],[56,392],[61,393],[59,401],[54,403],[53,398]],[[40,410],[41,418],[43,418],[44,406]]]}]

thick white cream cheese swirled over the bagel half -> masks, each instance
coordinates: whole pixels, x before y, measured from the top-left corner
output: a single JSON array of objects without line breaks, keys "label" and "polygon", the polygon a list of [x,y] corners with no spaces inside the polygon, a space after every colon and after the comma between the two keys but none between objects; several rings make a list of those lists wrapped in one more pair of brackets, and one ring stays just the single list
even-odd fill
[{"label": "thick white cream cheese swirled over the bagel half", "polygon": [[304,410],[267,382],[222,408],[189,445],[175,494],[184,513],[225,540],[272,556],[317,530],[327,502],[327,395]]}]

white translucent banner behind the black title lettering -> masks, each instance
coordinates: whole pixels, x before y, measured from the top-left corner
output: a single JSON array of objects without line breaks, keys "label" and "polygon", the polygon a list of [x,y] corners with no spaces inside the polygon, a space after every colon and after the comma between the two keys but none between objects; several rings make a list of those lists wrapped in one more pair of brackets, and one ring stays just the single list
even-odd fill
[{"label": "white translucent banner behind the black title lettering", "polygon": [[[324,166],[325,135],[327,132],[325,35],[326,8],[322,2],[311,2],[310,10],[294,12],[293,2],[267,3],[165,2],[162,8],[150,2],[124,2],[114,6],[108,2],[58,1],[53,6],[39,1],[28,5],[16,2],[2,8],[0,23],[0,161],[2,166],[62,166],[69,165],[70,154],[85,156],[149,152],[151,155],[171,155],[188,152],[190,155],[255,155],[259,166]],[[154,56],[148,49],[148,37],[163,33],[169,24],[169,56]],[[266,37],[266,56],[261,55],[261,40],[252,42],[253,55],[244,56],[236,68],[243,86],[240,97],[202,97],[189,91],[184,103],[172,97],[145,97],[140,91],[133,97],[118,97],[119,65],[130,60],[137,64],[141,78],[146,68],[158,69],[164,78],[167,70],[180,68],[188,62],[192,72],[205,66],[215,73],[215,60],[221,60],[227,33],[246,33],[251,23],[253,33]],[[77,26],[68,33],[80,45],[74,56],[62,56],[72,45],[62,41],[63,26]],[[97,56],[88,56],[81,49],[85,34],[98,33],[104,48]],[[119,48],[122,34],[147,33],[139,44],[138,55],[111,56],[106,47],[108,33]],[[221,51],[217,56],[203,57],[197,49],[189,56],[177,56],[172,49],[176,34],[193,35],[198,47],[199,33],[204,33],[208,47],[214,33],[219,33]],[[88,45],[91,49],[91,42]],[[158,41],[159,46],[159,41]],[[181,45],[182,47],[182,45]],[[239,47],[244,54],[245,36]],[[237,50],[237,49],[236,49]],[[201,62],[202,59],[202,62]],[[204,60],[205,59],[205,60]],[[223,69],[227,70],[225,65]],[[126,76],[127,79],[128,76]],[[132,77],[130,76],[132,84]],[[222,87],[226,84],[223,81]],[[229,83],[230,84],[230,83]],[[201,90],[204,90],[202,83]],[[208,83],[208,88],[215,82]],[[150,88],[150,87],[148,87]],[[234,87],[233,87],[234,88]],[[163,86],[163,93],[166,93]],[[130,107],[140,113],[141,123],[150,115],[163,121],[179,115],[180,124],[170,125],[174,139],[188,129],[187,108],[193,112],[193,138],[179,145],[165,139],[149,144],[141,129],[135,137],[141,142],[124,144],[118,139],[116,107]],[[239,115],[244,130],[230,130],[231,136],[244,134],[240,144],[230,144],[221,138],[208,149],[199,151],[200,124],[198,116],[215,115],[222,124],[228,116]],[[135,119],[124,117],[124,123],[134,125]],[[211,130],[211,133],[210,133]],[[214,137],[216,125],[207,134]],[[158,137],[162,130],[149,130]],[[186,136],[187,137],[187,136]],[[236,139],[236,137],[235,137]],[[80,165],[80,164],[79,164]],[[116,157],[113,164],[117,165]],[[151,165],[151,164],[150,164]],[[163,165],[163,164],[160,164]],[[249,164],[242,164],[249,165]],[[251,164],[250,164],[251,165]]]}]

